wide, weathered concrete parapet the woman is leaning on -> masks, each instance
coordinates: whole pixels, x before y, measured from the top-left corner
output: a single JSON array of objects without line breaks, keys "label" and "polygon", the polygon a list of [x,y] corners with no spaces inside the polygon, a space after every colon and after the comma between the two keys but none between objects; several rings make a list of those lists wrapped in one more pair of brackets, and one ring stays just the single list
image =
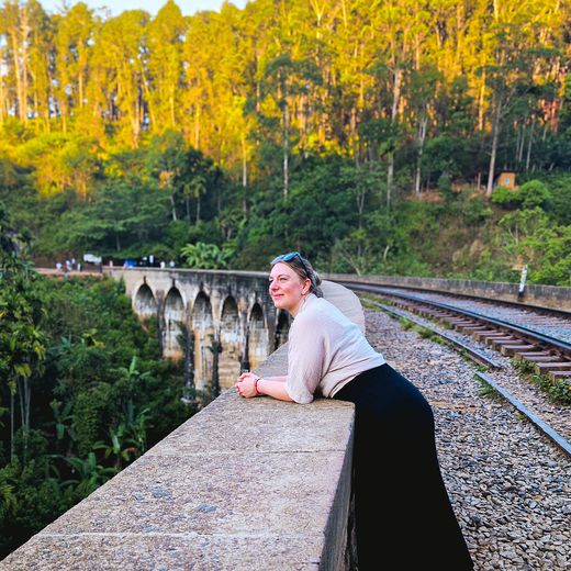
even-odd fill
[{"label": "wide, weathered concrete parapet the woman is leaning on", "polygon": [[[352,293],[329,293],[362,318]],[[286,371],[286,346],[258,369]],[[344,569],[352,424],[350,403],[228,391],[0,569]]]}]

